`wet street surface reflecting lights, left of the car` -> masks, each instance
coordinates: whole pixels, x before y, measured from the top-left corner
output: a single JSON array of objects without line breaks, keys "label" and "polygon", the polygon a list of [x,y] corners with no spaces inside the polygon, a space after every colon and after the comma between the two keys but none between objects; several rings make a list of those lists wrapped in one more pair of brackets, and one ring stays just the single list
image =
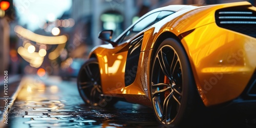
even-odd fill
[{"label": "wet street surface reflecting lights, left of the car", "polygon": [[86,106],[75,81],[26,77],[9,113],[8,127],[162,127],[152,109],[119,101]]}]

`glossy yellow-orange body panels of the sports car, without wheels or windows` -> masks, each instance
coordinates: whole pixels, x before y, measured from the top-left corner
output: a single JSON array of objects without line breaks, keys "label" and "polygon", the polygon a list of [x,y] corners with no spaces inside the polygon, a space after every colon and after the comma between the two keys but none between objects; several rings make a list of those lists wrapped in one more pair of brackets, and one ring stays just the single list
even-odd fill
[{"label": "glossy yellow-orange body panels of the sports car, without wheels or windows", "polygon": [[[124,84],[124,70],[127,57],[125,49],[129,48],[129,41],[117,47],[110,44],[96,47],[90,56],[97,57],[99,61],[103,93],[151,106],[148,73],[151,53],[158,38],[163,33],[178,37],[181,33],[195,29],[180,41],[188,55],[204,104],[216,105],[237,98],[255,71],[256,39],[218,27],[213,15],[218,9],[241,5],[251,6],[248,2],[238,2],[201,7],[169,7],[179,10],[176,15],[180,15],[177,14],[179,12],[181,15],[176,17],[173,14],[173,20],[165,18],[141,32],[144,33],[144,39],[136,79],[127,87]],[[255,7],[249,9],[256,11]],[[191,11],[183,13],[187,10]]]}]

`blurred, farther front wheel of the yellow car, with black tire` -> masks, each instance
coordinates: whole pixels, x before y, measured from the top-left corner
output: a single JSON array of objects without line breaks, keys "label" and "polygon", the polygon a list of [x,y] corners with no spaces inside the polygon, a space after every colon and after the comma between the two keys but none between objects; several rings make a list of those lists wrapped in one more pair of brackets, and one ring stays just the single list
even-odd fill
[{"label": "blurred, farther front wheel of the yellow car, with black tire", "polygon": [[117,100],[105,96],[101,89],[99,63],[90,58],[81,66],[77,77],[77,87],[83,101],[102,108],[114,105]]}]

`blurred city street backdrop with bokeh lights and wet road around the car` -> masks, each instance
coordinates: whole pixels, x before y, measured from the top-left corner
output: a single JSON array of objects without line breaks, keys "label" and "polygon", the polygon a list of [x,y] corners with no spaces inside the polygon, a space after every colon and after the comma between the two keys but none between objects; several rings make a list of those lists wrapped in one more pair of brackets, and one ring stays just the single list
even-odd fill
[{"label": "blurred city street backdrop with bokeh lights and wet road around the car", "polygon": [[[114,39],[140,16],[167,5],[229,2],[239,1],[0,0],[0,127],[161,127],[152,110],[138,104],[84,106],[76,76],[90,50],[104,44],[98,33],[114,30]],[[248,2],[256,6],[256,0]],[[243,119],[248,127],[255,122]]]}]

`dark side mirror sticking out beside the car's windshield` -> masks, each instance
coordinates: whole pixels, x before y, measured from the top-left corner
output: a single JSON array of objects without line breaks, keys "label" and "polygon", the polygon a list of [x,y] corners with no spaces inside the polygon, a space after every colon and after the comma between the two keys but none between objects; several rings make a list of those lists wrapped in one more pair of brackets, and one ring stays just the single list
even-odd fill
[{"label": "dark side mirror sticking out beside the car's windshield", "polygon": [[99,32],[99,39],[109,42],[113,47],[117,46],[117,44],[113,41],[111,41],[112,39],[112,34],[113,34],[113,30],[102,30],[101,32]]}]

